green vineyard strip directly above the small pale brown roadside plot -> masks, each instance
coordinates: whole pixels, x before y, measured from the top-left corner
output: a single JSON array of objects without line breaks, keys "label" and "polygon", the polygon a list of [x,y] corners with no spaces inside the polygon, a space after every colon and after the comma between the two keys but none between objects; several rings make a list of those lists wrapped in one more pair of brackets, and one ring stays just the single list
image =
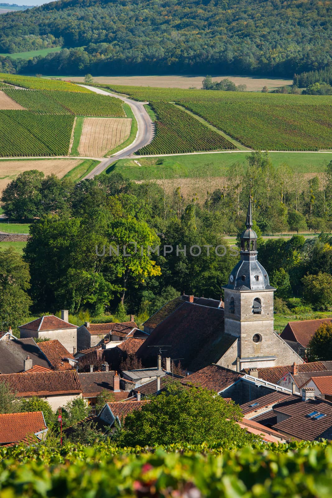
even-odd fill
[{"label": "green vineyard strip directly above the small pale brown roadside plot", "polygon": [[54,90],[6,89],[5,93],[25,109],[41,114],[125,117],[120,99],[94,93]]}]

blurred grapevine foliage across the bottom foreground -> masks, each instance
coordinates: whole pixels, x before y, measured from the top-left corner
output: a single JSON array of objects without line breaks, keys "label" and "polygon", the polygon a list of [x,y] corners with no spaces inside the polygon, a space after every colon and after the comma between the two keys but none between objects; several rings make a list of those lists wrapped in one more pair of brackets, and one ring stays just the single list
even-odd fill
[{"label": "blurred grapevine foliage across the bottom foreground", "polygon": [[0,497],[331,496],[332,444],[1,448]]}]

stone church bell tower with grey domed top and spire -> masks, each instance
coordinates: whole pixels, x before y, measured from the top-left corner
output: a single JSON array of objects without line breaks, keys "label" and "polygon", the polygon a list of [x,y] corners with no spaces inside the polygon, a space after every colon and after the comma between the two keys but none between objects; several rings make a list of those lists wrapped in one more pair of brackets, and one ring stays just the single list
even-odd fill
[{"label": "stone church bell tower with grey domed top and spire", "polygon": [[241,259],[224,287],[225,333],[239,338],[241,369],[273,367],[280,365],[276,363],[279,355],[276,355],[276,334],[273,331],[275,289],[257,260],[257,235],[251,229],[251,198],[246,226],[247,230],[241,234]]}]

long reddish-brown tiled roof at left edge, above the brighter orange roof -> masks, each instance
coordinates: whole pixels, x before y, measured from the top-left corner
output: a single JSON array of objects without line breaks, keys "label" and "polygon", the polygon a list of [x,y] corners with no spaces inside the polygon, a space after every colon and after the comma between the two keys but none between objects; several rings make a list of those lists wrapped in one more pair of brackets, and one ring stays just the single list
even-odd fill
[{"label": "long reddish-brown tiled roof at left edge, above the brighter orange roof", "polygon": [[82,387],[76,370],[43,373],[7,373],[0,375],[0,383],[9,385],[16,396],[54,396],[80,394]]}]

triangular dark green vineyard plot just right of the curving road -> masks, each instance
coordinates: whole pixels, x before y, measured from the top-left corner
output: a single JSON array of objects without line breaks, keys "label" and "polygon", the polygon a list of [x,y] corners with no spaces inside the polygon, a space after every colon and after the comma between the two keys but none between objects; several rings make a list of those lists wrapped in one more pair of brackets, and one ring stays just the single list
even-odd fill
[{"label": "triangular dark green vineyard plot just right of the curving road", "polygon": [[139,154],[167,154],[199,150],[235,149],[226,138],[167,102],[151,102],[155,111],[156,136]]}]

